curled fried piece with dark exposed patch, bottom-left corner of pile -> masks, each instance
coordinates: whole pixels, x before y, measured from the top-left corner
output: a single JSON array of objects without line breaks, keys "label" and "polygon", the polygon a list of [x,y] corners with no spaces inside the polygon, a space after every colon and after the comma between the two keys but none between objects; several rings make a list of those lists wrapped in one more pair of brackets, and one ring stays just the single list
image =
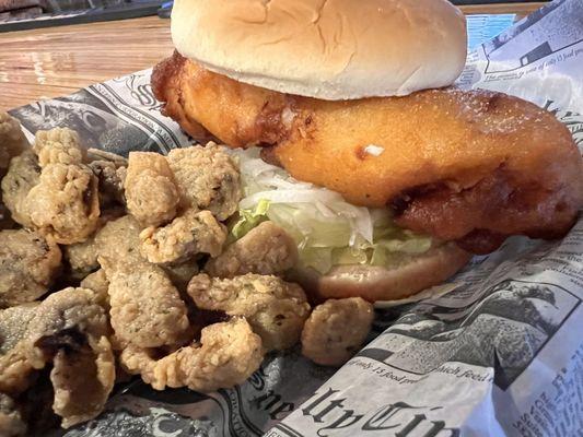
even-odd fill
[{"label": "curled fried piece with dark exposed patch, bottom-left corner of pile", "polygon": [[61,425],[95,417],[115,382],[109,334],[105,311],[89,290],[66,288],[39,304],[0,311],[0,391],[21,393],[50,363],[53,409]]}]

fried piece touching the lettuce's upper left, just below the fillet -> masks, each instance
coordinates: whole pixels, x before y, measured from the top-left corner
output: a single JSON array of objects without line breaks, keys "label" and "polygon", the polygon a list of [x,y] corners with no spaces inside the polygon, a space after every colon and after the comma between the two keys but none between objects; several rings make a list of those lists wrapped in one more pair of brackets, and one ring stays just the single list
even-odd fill
[{"label": "fried piece touching the lettuce's upper left, just below the fillet", "polygon": [[167,161],[187,206],[209,210],[219,221],[231,216],[241,200],[241,178],[231,156],[213,142],[174,149]]}]

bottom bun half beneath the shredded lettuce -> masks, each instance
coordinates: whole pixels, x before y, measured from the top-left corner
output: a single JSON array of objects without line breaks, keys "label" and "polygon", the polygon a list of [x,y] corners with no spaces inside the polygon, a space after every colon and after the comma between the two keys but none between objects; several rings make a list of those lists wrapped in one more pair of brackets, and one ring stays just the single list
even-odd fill
[{"label": "bottom bun half beneath the shredded lettuce", "polygon": [[441,284],[462,269],[471,253],[454,243],[411,257],[394,268],[337,265],[320,274],[312,268],[296,268],[289,279],[304,287],[313,302],[362,297],[369,302],[396,300]]}]

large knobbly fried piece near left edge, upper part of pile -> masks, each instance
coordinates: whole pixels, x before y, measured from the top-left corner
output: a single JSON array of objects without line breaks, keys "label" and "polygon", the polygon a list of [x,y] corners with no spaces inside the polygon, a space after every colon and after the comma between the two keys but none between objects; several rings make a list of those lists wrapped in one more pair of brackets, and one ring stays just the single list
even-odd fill
[{"label": "large knobbly fried piece near left edge, upper part of pile", "polygon": [[49,164],[28,191],[24,211],[34,227],[57,243],[83,241],[98,225],[97,179],[84,165]]}]

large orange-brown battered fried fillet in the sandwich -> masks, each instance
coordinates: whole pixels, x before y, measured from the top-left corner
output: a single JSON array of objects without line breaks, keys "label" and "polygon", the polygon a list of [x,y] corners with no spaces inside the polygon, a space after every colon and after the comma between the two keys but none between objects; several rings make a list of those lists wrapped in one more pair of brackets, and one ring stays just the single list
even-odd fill
[{"label": "large orange-brown battered fried fillet in the sandwich", "polygon": [[152,86],[191,135],[269,145],[266,155],[298,179],[386,205],[404,227],[475,252],[514,234],[561,236],[583,204],[569,130],[502,93],[319,101],[236,82],[178,54],[156,67]]}]

